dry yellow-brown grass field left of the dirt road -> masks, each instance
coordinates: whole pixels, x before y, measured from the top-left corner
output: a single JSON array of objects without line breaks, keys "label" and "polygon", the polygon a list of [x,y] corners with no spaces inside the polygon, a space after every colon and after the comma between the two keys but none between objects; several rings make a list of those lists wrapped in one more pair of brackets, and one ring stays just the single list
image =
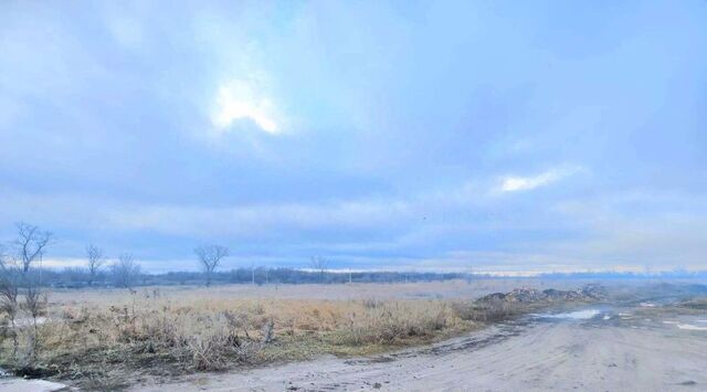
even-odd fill
[{"label": "dry yellow-brown grass field left of the dirt road", "polygon": [[12,338],[4,329],[1,360],[19,374],[113,389],[141,375],[169,378],[326,353],[370,354],[456,336],[513,315],[519,309],[483,306],[473,299],[518,286],[545,284],[478,280],[56,292],[49,294],[41,317],[17,318],[23,327]]}]

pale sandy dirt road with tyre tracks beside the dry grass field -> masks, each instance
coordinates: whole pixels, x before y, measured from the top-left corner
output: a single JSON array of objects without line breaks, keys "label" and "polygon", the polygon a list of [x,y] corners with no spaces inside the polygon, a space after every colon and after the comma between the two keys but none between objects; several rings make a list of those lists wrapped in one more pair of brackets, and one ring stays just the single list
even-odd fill
[{"label": "pale sandy dirt road with tyre tracks beside the dry grass field", "polygon": [[534,318],[393,354],[199,374],[135,390],[707,390],[707,332],[677,328],[694,320],[665,324],[632,310],[590,311],[593,318],[583,320]]}]

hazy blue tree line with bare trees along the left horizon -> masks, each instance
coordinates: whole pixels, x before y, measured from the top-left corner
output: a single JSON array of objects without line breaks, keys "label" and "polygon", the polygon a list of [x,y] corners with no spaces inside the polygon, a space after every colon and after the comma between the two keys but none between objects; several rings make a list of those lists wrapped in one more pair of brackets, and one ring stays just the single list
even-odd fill
[{"label": "hazy blue tree line with bare trees along the left horizon", "polygon": [[54,241],[54,235],[29,223],[18,223],[15,239],[0,244],[0,288],[14,287],[27,293],[39,287],[124,287],[146,285],[200,285],[212,284],[341,284],[341,283],[399,283],[431,282],[465,278],[461,273],[421,272],[352,272],[330,269],[326,257],[313,256],[307,268],[255,266],[219,271],[223,259],[230,256],[226,246],[210,244],[193,250],[194,262],[201,272],[168,272],[147,274],[130,253],[115,258],[106,255],[95,244],[85,248],[85,265],[65,268],[46,268],[43,257]]}]

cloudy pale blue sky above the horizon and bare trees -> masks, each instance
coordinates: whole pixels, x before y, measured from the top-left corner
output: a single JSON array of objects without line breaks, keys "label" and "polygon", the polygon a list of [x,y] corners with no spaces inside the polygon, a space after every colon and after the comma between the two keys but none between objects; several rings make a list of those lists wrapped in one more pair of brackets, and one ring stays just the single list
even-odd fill
[{"label": "cloudy pale blue sky above the horizon and bare trees", "polygon": [[707,2],[0,2],[0,240],[707,268]]}]

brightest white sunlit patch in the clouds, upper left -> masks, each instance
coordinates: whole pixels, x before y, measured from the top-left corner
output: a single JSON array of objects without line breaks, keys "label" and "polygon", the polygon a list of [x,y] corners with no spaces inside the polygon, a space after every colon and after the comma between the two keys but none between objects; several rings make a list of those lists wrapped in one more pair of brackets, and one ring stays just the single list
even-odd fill
[{"label": "brightest white sunlit patch in the clouds, upper left", "polygon": [[212,124],[221,131],[239,119],[250,119],[263,131],[276,135],[282,131],[275,119],[272,100],[260,92],[254,83],[233,81],[219,88]]}]

